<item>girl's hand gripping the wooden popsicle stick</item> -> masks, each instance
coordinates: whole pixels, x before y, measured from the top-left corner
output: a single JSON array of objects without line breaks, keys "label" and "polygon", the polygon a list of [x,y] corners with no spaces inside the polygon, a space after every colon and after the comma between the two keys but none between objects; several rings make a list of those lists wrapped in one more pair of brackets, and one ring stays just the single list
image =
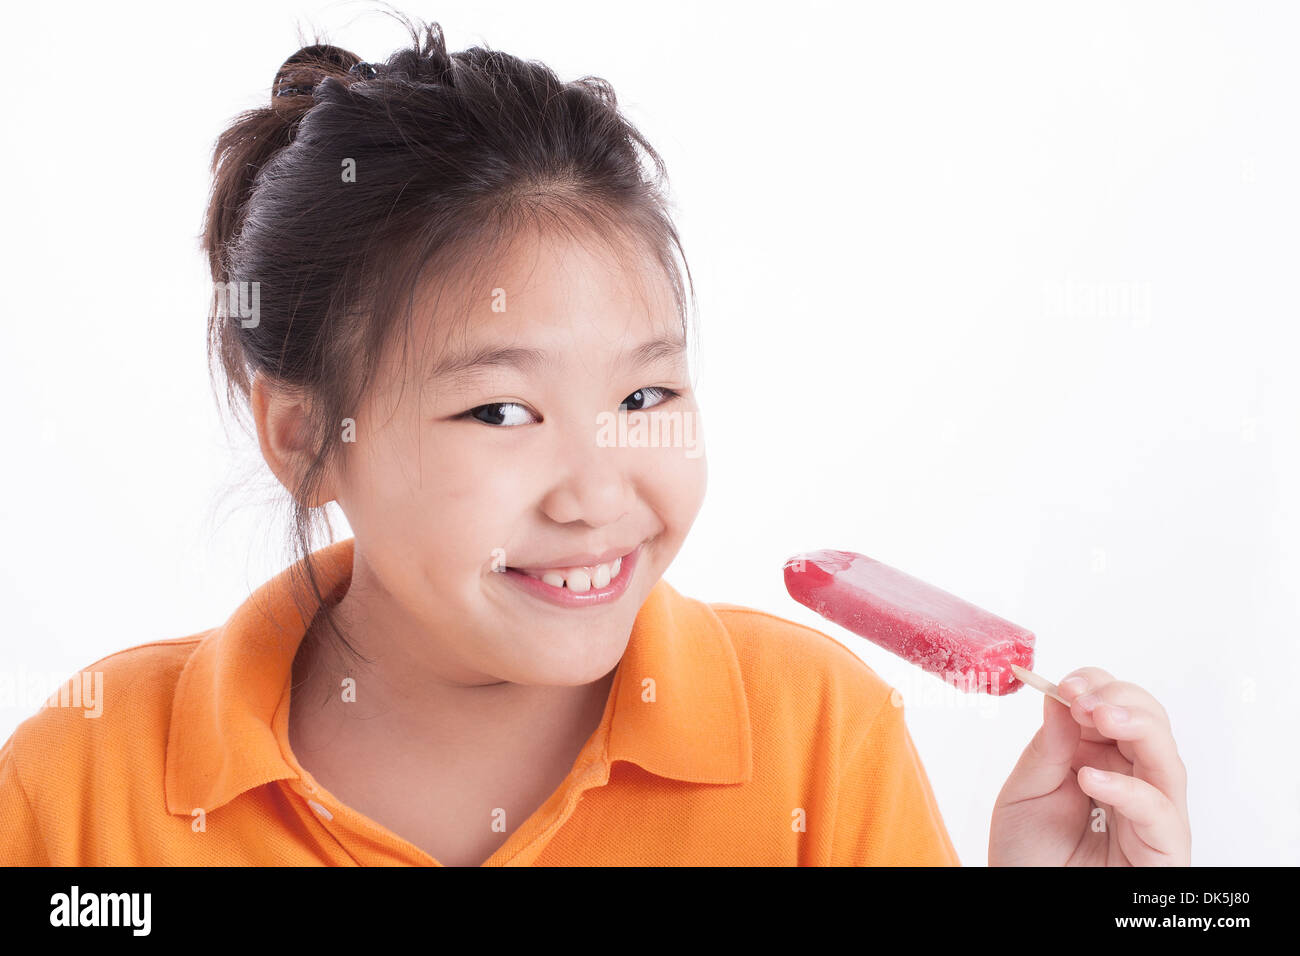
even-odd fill
[{"label": "girl's hand gripping the wooden popsicle stick", "polygon": [[1043,696],[1043,726],[997,795],[988,865],[1191,865],[1187,767],[1160,701],[1098,667],[1058,689],[1070,706]]}]

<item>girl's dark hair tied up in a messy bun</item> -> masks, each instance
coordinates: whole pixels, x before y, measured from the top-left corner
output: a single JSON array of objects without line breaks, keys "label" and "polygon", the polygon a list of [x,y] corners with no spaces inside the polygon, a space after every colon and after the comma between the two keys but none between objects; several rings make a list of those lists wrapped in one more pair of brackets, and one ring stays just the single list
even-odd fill
[{"label": "girl's dark hair tied up in a messy bun", "polygon": [[[317,35],[281,65],[270,104],[240,113],[217,139],[203,226],[217,293],[209,367],[224,372],[237,418],[259,373],[303,401],[312,460],[290,489],[294,551],[354,658],[312,564],[318,519],[333,541],[325,507],[312,501],[342,451],[341,421],[355,415],[403,316],[410,332],[422,277],[464,278],[533,226],[649,252],[685,333],[680,255],[696,302],[663,160],[604,79],[562,82],[541,62],[482,47],[447,53],[438,23],[398,20],[412,46],[384,62]],[[355,181],[344,181],[348,160]],[[222,302],[237,289],[247,302],[240,284],[254,282],[256,321],[244,323],[231,315],[243,310]]]}]

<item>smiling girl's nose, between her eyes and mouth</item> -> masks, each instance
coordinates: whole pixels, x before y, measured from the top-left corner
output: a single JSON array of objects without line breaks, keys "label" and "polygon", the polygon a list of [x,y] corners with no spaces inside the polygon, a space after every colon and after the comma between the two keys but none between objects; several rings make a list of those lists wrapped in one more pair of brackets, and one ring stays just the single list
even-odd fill
[{"label": "smiling girl's nose, between her eyes and mouth", "polygon": [[614,524],[632,510],[636,494],[625,449],[597,442],[595,423],[568,429],[555,453],[555,481],[542,502],[558,524],[584,522],[593,528]]}]

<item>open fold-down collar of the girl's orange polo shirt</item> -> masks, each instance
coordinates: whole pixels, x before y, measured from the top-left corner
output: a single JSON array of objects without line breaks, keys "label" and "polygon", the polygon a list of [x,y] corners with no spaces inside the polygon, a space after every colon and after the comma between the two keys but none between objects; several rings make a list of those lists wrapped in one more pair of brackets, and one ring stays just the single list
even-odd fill
[{"label": "open fold-down collar of the girl's orange polo shirt", "polygon": [[[330,602],[351,583],[355,540],[312,555]],[[315,597],[295,600],[303,571],[299,562],[261,585],[203,636],[186,662],[168,731],[169,813],[211,812],[252,787],[298,775],[285,756],[289,687],[298,645],[320,606]],[[679,594],[660,578],[637,613],[619,669],[606,741],[610,762],[632,761],[692,783],[750,779],[740,662],[708,605]]]}]

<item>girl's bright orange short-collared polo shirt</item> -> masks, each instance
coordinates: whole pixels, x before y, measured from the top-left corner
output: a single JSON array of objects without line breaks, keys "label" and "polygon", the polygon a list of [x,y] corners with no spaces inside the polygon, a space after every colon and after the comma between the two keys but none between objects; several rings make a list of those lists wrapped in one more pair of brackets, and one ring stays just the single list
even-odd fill
[{"label": "girl's bright orange short-collared polo shirt", "polygon": [[[352,545],[315,555],[328,600]],[[289,585],[281,572],[221,627],[87,667],[98,717],[69,683],[20,724],[0,748],[0,864],[438,865],[294,757],[311,615]],[[484,865],[957,865],[890,691],[820,631],[660,579],[599,727]]]}]

